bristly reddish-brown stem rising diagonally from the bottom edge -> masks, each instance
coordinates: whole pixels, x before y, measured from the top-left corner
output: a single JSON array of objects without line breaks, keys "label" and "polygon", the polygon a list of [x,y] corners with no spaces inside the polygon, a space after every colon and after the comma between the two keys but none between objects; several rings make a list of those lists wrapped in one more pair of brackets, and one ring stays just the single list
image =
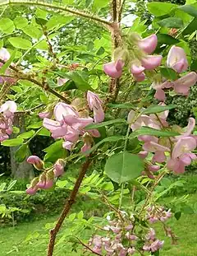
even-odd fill
[{"label": "bristly reddish-brown stem rising diagonally from the bottom edge", "polygon": [[55,246],[55,240],[56,240],[57,233],[60,230],[62,223],[65,220],[68,212],[70,212],[73,203],[76,202],[76,195],[78,193],[78,190],[80,189],[80,184],[85,177],[85,173],[88,170],[90,163],[91,163],[90,158],[87,158],[85,163],[82,165],[82,168],[80,170],[80,175],[76,179],[76,184],[75,184],[74,188],[72,189],[69,198],[66,200],[66,204],[63,208],[61,216],[59,217],[57,224],[53,228],[53,230],[50,230],[50,241],[48,244],[48,256],[53,255],[53,250],[54,250],[54,246]]}]

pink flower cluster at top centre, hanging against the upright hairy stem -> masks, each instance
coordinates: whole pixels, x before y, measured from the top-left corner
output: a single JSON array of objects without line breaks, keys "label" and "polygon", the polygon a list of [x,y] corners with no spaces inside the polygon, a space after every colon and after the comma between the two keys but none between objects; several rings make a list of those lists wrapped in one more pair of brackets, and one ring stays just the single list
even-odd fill
[{"label": "pink flower cluster at top centre, hanging against the upright hairy stem", "polygon": [[[144,39],[136,40],[135,48],[138,49],[140,54],[135,54],[134,58],[131,59],[129,64],[131,65],[130,71],[135,77],[136,81],[144,81],[145,79],[145,70],[153,70],[162,63],[163,57],[161,55],[149,55],[153,54],[153,51],[156,49],[158,44],[157,35],[149,35]],[[124,59],[117,59],[117,61],[112,63],[104,64],[104,72],[112,78],[121,77],[122,68],[125,66]]]}]

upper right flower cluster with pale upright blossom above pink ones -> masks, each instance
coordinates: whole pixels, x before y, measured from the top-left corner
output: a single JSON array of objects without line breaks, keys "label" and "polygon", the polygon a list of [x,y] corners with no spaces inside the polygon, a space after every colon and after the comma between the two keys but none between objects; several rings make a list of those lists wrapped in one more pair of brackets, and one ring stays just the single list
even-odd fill
[{"label": "upper right flower cluster with pale upright blossom above pink ones", "polygon": [[[172,68],[178,74],[187,70],[188,61],[184,49],[175,45],[172,46],[167,55],[167,67]],[[196,81],[196,72],[186,73],[176,81],[168,81],[165,79],[163,79],[163,81],[154,81],[152,84],[153,89],[156,90],[154,97],[157,100],[166,100],[164,90],[169,88],[172,88],[177,95],[189,95],[190,86],[194,86]]]}]

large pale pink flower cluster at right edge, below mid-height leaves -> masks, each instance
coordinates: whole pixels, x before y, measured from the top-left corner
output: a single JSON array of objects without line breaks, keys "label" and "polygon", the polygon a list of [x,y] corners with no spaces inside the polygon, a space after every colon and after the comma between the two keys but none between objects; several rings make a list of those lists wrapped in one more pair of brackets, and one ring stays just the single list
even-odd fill
[{"label": "large pale pink flower cluster at right edge, below mid-height leaves", "polygon": [[[164,105],[163,103],[159,105]],[[135,131],[143,126],[149,128],[155,128],[161,130],[163,128],[169,128],[167,123],[168,110],[157,114],[142,114],[135,123],[131,124],[131,129]],[[131,110],[129,117],[135,116],[135,111]],[[196,160],[196,156],[191,151],[197,147],[196,137],[192,135],[192,131],[195,128],[195,119],[190,118],[186,128],[178,128],[181,133],[176,137],[156,137],[143,135],[138,139],[144,142],[143,150],[139,153],[139,156],[145,159],[148,153],[153,153],[152,163],[148,165],[149,173],[159,170],[159,166],[155,163],[167,162],[168,170],[172,170],[176,174],[184,173],[186,166],[191,164],[192,160]],[[151,176],[151,175],[149,175]]]}]

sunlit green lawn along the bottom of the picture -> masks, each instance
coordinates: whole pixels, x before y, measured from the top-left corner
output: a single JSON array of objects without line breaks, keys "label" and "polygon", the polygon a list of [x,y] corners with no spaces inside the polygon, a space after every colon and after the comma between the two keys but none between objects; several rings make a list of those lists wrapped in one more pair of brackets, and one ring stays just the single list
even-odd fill
[{"label": "sunlit green lawn along the bottom of the picture", "polygon": [[[197,194],[190,195],[190,201],[197,201]],[[34,221],[30,223],[23,223],[16,227],[5,227],[0,229],[0,256],[45,256],[47,241],[48,241],[48,231],[44,229],[44,226],[48,222],[53,222],[57,220],[57,216],[50,216],[48,219],[43,219],[40,221]],[[168,222],[169,226],[179,237],[178,244],[172,245],[169,238],[163,235],[162,227],[157,226],[158,238],[165,240],[163,250],[160,256],[197,256],[197,214],[192,215],[182,215],[179,221],[173,218]],[[32,234],[33,231],[41,231],[43,235],[46,235],[46,240],[35,247],[32,241],[23,241],[26,237]],[[39,241],[39,238],[38,238]],[[80,256],[81,254],[71,254],[66,253],[66,249],[58,252],[56,251],[55,256]]]}]

